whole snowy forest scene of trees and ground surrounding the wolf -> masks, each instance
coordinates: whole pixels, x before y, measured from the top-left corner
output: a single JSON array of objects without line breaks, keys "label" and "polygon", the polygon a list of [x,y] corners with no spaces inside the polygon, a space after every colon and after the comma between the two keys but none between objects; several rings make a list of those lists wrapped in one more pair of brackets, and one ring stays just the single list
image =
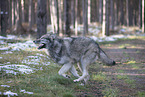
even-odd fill
[{"label": "whole snowy forest scene of trees and ground surrounding the wolf", "polygon": [[[144,0],[0,0],[0,97],[145,97]],[[89,37],[116,62],[96,60],[74,82],[34,40]],[[66,38],[66,39],[67,39]],[[71,38],[68,38],[71,39]],[[82,44],[83,45],[83,44]],[[73,64],[79,75],[79,63]]]}]

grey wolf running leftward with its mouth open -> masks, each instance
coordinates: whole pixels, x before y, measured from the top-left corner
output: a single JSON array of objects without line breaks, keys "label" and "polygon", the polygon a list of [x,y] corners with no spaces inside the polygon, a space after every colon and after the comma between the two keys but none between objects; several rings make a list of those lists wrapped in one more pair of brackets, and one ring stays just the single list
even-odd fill
[{"label": "grey wolf running leftward with its mouth open", "polygon": [[[110,59],[107,54],[100,48],[97,42],[88,37],[59,37],[56,34],[45,34],[40,39],[33,41],[40,44],[38,49],[46,48],[51,58],[58,64],[62,65],[58,74],[70,78],[65,74],[70,71],[77,79],[74,82],[89,80],[89,65],[100,59],[109,66],[115,65],[115,61]],[[80,76],[74,64],[80,63],[82,75]]]}]

